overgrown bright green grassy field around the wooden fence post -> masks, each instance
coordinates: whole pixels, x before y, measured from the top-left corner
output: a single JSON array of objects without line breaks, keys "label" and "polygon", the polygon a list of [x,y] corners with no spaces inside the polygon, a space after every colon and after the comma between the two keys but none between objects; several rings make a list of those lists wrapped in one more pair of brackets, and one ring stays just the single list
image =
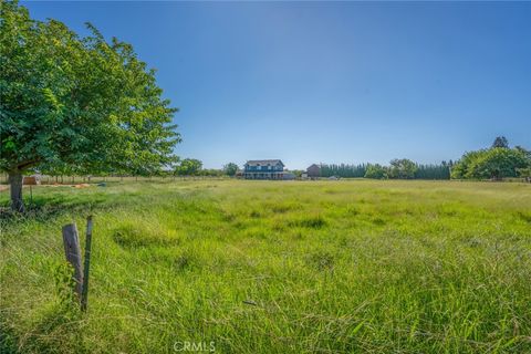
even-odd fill
[{"label": "overgrown bright green grassy field around the wooden fence post", "polygon": [[[115,183],[33,200],[1,219],[2,354],[531,351],[530,185]],[[82,314],[61,227],[88,214]]]}]

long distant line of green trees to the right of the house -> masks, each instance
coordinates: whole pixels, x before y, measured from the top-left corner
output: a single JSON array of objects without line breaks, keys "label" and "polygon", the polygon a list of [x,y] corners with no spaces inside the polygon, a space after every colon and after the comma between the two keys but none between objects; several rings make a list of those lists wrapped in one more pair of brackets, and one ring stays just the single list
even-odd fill
[{"label": "long distant line of green trees to the right of the house", "polygon": [[321,177],[375,179],[493,179],[521,177],[531,179],[531,152],[511,148],[504,136],[494,139],[489,148],[467,152],[454,163],[417,164],[407,158],[393,159],[388,166],[379,164],[321,164]]}]

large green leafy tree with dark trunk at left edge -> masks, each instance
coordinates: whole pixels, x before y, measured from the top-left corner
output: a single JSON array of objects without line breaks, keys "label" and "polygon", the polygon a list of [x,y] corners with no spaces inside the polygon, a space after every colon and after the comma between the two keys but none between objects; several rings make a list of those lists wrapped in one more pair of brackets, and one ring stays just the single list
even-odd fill
[{"label": "large green leafy tree with dark trunk at left edge", "polygon": [[29,169],[148,174],[170,164],[180,138],[175,108],[133,48],[91,24],[81,38],[32,20],[15,1],[0,9],[0,170],[23,211]]}]

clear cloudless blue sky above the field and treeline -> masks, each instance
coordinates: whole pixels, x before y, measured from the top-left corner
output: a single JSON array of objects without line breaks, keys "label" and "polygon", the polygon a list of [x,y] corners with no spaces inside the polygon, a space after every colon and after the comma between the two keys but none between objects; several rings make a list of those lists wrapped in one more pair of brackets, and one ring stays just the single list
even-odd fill
[{"label": "clear cloudless blue sky above the field and treeline", "polygon": [[206,167],[531,148],[531,2],[22,2],[158,70]]}]

